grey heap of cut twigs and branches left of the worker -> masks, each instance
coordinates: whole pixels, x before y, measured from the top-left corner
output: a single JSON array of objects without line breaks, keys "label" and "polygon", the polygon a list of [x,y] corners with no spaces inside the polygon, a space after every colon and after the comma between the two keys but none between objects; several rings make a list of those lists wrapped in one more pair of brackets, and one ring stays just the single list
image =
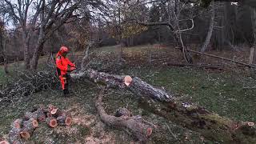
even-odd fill
[{"label": "grey heap of cut twigs and branches left of the worker", "polygon": [[14,82],[6,84],[0,90],[0,103],[2,106],[42,90],[54,90],[59,85],[58,77],[54,70],[26,73],[18,71],[17,73],[18,78]]}]

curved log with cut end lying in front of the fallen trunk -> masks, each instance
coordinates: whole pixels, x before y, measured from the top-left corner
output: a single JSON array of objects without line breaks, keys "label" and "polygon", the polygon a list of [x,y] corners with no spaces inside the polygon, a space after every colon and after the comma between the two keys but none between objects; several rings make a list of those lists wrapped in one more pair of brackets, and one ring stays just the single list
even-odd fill
[{"label": "curved log with cut end lying in front of the fallen trunk", "polygon": [[146,142],[148,138],[150,138],[153,128],[147,123],[144,123],[140,116],[129,117],[128,115],[122,115],[120,117],[115,117],[106,114],[106,111],[102,106],[102,94],[103,90],[100,92],[96,100],[96,108],[102,121],[108,126],[127,128],[136,138],[138,138],[139,141]]}]

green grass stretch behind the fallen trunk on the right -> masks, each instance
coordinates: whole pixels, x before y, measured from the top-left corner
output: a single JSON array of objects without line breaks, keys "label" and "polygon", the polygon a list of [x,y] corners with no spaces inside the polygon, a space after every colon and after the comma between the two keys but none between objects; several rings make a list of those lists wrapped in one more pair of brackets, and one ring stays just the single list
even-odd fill
[{"label": "green grass stretch behind the fallen trunk on the right", "polygon": [[[154,86],[164,88],[184,101],[205,106],[222,116],[242,121],[256,121],[256,89],[245,90],[243,85],[256,86],[256,81],[229,73],[208,73],[186,68],[130,70]],[[242,83],[241,80],[242,78]]]}]

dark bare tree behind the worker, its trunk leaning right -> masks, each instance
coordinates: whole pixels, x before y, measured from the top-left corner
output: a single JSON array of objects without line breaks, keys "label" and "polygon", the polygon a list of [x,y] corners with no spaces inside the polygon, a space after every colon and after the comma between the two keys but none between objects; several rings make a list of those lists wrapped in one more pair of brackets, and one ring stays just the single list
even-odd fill
[{"label": "dark bare tree behind the worker, its trunk leaning right", "polygon": [[73,15],[74,10],[77,10],[79,2],[70,1],[58,1],[53,0],[46,3],[46,0],[42,0],[42,7],[40,13],[40,23],[39,23],[39,35],[38,42],[34,49],[33,58],[31,60],[30,68],[36,70],[38,66],[38,58],[43,50],[43,45],[48,38],[58,28],[64,25],[66,22],[72,21],[76,18]]}]

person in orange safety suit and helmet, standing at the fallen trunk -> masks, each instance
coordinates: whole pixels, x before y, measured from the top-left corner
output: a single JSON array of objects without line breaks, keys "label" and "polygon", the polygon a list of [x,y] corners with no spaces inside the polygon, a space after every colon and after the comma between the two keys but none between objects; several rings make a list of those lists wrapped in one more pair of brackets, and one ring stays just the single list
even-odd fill
[{"label": "person in orange safety suit and helmet, standing at the fallen trunk", "polygon": [[62,46],[61,49],[58,51],[56,55],[56,68],[57,68],[57,75],[62,84],[63,95],[67,96],[70,94],[68,90],[68,81],[69,81],[69,74],[72,70],[75,70],[74,63],[70,62],[69,58],[66,58],[66,54],[68,54],[69,49],[66,46]]}]

